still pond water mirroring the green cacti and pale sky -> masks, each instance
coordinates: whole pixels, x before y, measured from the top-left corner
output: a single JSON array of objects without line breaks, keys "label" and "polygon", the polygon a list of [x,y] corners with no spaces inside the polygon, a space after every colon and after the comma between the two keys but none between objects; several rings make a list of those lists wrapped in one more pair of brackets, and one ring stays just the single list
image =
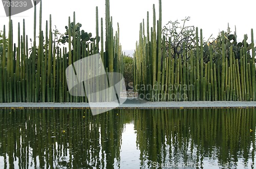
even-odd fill
[{"label": "still pond water mirroring the green cacti and pale sky", "polygon": [[241,108],[2,109],[0,168],[254,168],[255,123]]}]

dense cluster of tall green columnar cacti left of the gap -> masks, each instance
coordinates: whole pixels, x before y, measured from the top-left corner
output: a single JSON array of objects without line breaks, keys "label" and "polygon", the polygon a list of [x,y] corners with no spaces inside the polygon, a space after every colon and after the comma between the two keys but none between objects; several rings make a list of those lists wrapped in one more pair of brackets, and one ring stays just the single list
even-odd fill
[{"label": "dense cluster of tall green columnar cacti left of the gap", "polygon": [[[22,32],[18,24],[18,42],[13,44],[13,27],[10,18],[8,52],[4,50],[1,55],[0,102],[87,102],[86,96],[74,97],[69,93],[65,72],[69,65],[79,59],[100,52],[106,72],[123,71],[119,31],[116,32],[115,36],[113,35],[109,0],[106,0],[105,51],[103,50],[103,19],[101,18],[101,27],[99,28],[97,7],[96,38],[90,39],[93,41],[90,44],[81,43],[80,37],[84,36],[84,32],[76,30],[80,25],[75,25],[75,12],[73,22],[70,21],[69,17],[69,26],[66,27],[69,31],[68,49],[66,47],[60,48],[54,42],[51,15],[49,25],[46,21],[45,32],[42,30],[41,11],[40,2],[39,32],[36,32],[36,6],[34,8],[34,38],[31,52],[28,46],[28,36],[25,32],[25,20],[23,20]],[[101,29],[100,36],[99,29]],[[39,44],[36,44],[38,33]],[[3,37],[3,48],[5,49],[5,26]],[[71,46],[73,46],[73,49]],[[99,51],[100,47],[101,51]],[[97,82],[99,84],[99,81]]]}]

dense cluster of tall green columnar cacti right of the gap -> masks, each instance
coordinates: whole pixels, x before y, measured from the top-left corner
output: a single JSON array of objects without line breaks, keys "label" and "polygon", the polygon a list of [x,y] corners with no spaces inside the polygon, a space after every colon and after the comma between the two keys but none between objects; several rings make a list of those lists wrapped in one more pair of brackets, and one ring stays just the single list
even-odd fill
[{"label": "dense cluster of tall green columnar cacti right of the gap", "polygon": [[150,101],[256,100],[252,30],[250,45],[246,42],[247,36],[243,42],[231,44],[230,40],[236,37],[222,32],[216,44],[208,46],[203,43],[202,30],[199,38],[197,28],[195,49],[183,50],[171,57],[171,40],[166,43],[166,37],[161,34],[161,0],[157,26],[154,5],[151,30],[148,24],[147,13],[146,33],[143,20],[134,54],[134,86],[140,98]]}]

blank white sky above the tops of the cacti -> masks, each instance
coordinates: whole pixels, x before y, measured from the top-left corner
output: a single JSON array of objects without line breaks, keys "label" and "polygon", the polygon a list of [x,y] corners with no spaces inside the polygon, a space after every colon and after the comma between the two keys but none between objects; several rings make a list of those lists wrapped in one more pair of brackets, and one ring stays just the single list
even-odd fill
[{"label": "blank white sky above the tops of the cacti", "polygon": [[[153,25],[153,4],[156,5],[156,16],[158,18],[158,0],[110,0],[110,12],[113,16],[114,30],[116,31],[117,22],[120,27],[120,43],[123,50],[135,49],[135,43],[139,39],[139,24],[142,19],[146,21],[146,12],[150,12],[150,27]],[[255,0],[247,1],[170,1],[162,0],[162,26],[169,20],[184,19],[190,16],[187,25],[198,26],[203,29],[203,36],[208,38],[211,34],[217,37],[219,30],[226,31],[227,23],[231,31],[234,31],[234,25],[237,27],[238,39],[243,39],[244,34],[248,34],[250,42],[250,29],[254,29],[254,39],[256,39],[256,10]],[[82,24],[81,29],[91,32],[96,36],[95,11],[96,6],[100,17],[105,18],[105,0],[42,0],[42,23],[45,25],[52,14],[52,25],[57,26],[61,33],[65,33],[65,26],[68,25],[68,17],[73,20],[73,12],[76,12],[76,22]],[[26,34],[33,39],[33,9],[12,16],[14,27],[14,42],[17,40],[17,25],[26,22]],[[37,6],[39,17],[39,5]],[[4,7],[0,5],[0,30],[3,25],[8,27],[9,18],[6,17]],[[37,25],[39,20],[37,20]],[[45,27],[45,26],[44,26]],[[45,28],[43,27],[43,30]],[[45,32],[44,32],[45,33]],[[37,29],[38,35],[38,29]],[[256,41],[256,40],[254,40]]]}]

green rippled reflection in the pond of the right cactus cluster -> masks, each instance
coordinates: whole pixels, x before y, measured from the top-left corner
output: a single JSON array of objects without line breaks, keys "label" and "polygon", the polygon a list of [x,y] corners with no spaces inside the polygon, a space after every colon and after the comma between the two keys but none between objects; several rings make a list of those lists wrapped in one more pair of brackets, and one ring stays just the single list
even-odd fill
[{"label": "green rippled reflection in the pond of the right cactus cluster", "polygon": [[136,110],[134,117],[143,168],[152,168],[148,160],[223,164],[254,156],[254,109]]}]

